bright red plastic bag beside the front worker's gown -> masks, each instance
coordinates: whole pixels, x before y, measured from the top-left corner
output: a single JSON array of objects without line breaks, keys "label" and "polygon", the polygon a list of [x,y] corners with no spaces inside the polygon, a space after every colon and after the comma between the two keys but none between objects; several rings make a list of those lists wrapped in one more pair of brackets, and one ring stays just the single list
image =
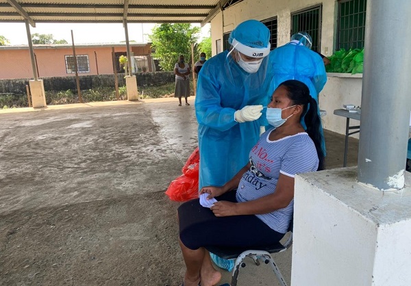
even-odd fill
[{"label": "bright red plastic bag beside the front worker's gown", "polygon": [[197,147],[182,168],[183,174],[171,181],[166,190],[166,195],[171,200],[185,202],[199,197],[199,164],[200,155]]}]

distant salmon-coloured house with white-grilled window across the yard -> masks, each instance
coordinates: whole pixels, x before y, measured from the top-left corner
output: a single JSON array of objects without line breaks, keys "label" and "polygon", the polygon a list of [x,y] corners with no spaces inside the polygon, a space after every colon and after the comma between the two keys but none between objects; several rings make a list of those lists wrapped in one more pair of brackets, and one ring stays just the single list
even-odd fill
[{"label": "distant salmon-coloured house with white-grilled window across the yard", "polygon": [[[112,47],[114,47],[114,64],[117,73],[124,73],[119,64],[119,57],[127,55],[125,43],[77,44],[75,55],[79,75],[107,75],[114,73]],[[66,77],[75,75],[75,62],[71,44],[35,44],[34,58],[38,77]],[[140,71],[155,71],[151,57],[151,43],[130,43],[132,68]],[[29,47],[0,47],[0,79],[33,78]]]}]

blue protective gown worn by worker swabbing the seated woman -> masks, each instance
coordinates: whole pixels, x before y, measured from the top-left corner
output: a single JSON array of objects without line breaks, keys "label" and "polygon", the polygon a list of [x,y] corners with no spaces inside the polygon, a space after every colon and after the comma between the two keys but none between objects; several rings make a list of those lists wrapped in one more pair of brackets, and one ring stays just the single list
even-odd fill
[{"label": "blue protective gown worn by worker swabbing the seated woman", "polygon": [[[201,68],[195,96],[200,152],[199,190],[222,186],[248,161],[260,137],[262,119],[238,123],[234,112],[246,105],[267,105],[266,70],[246,73],[228,51],[215,55]],[[267,59],[264,59],[267,60]],[[263,116],[262,116],[263,117]]]}]

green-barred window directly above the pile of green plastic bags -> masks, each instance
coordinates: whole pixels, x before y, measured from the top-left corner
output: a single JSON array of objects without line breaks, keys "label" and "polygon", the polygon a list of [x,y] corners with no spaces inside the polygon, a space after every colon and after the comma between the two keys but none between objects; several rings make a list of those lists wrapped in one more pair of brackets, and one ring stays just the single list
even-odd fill
[{"label": "green-barred window directly above the pile of green plastic bags", "polygon": [[336,49],[362,49],[365,38],[366,0],[338,1]]}]

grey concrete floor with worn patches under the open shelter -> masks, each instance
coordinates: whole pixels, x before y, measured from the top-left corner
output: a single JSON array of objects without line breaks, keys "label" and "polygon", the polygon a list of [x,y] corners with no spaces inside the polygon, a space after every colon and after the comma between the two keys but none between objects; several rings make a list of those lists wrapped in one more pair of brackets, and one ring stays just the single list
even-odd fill
[{"label": "grey concrete floor with worn patches under the open shelter", "polygon": [[[179,285],[179,203],[164,191],[197,146],[189,102],[0,110],[0,285]],[[327,168],[342,167],[344,136],[325,140]],[[277,255],[288,282],[291,253]],[[238,285],[277,281],[248,263]]]}]

